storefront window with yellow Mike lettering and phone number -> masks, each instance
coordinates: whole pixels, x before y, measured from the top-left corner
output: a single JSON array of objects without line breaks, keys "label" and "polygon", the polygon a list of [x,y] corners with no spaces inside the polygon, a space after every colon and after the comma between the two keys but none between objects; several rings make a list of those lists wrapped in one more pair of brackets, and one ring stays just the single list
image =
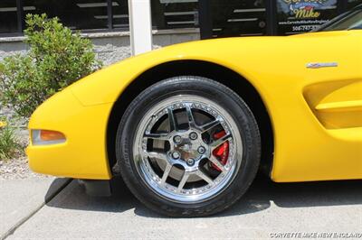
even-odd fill
[{"label": "storefront window with yellow Mike lettering and phone number", "polygon": [[337,0],[278,0],[278,33],[309,32],[338,15]]}]

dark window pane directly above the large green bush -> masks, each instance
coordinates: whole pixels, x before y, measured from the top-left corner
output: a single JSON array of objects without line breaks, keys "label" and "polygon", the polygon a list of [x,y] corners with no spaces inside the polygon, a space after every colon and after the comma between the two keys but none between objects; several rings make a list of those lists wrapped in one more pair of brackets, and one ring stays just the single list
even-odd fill
[{"label": "dark window pane directly above the large green bush", "polygon": [[[24,0],[24,5],[33,6],[24,10],[24,15],[45,13],[49,17],[57,16],[72,30],[108,28],[106,0]],[[119,3],[114,1],[112,5]]]}]

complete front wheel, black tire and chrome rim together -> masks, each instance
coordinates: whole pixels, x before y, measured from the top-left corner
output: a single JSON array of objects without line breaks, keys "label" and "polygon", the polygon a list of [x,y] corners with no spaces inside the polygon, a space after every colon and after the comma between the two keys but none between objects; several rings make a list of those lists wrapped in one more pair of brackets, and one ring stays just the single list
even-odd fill
[{"label": "complete front wheel, black tire and chrome rim together", "polygon": [[230,88],[194,76],[147,88],[119,122],[121,175],[148,208],[201,217],[230,207],[258,170],[255,118]]}]

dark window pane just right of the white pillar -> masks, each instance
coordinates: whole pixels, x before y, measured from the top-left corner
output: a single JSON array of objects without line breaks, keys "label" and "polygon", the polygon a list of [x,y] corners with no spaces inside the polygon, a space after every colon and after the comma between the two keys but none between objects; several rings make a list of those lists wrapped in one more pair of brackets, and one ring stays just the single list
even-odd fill
[{"label": "dark window pane just right of the white pillar", "polygon": [[154,29],[195,28],[198,26],[197,0],[152,0]]}]

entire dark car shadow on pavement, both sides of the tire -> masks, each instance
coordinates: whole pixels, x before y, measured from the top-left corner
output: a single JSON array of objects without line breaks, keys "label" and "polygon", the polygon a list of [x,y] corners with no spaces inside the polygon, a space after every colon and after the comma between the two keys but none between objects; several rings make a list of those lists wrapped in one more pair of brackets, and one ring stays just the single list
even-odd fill
[{"label": "entire dark car shadow on pavement, both sides of the tire", "polygon": [[[52,187],[48,192],[52,192]],[[259,174],[251,188],[232,208],[213,217],[245,215],[270,208],[303,208],[362,204],[362,180],[275,183]],[[163,217],[138,202],[122,180],[113,180],[111,197],[90,197],[77,180],[47,203],[52,208],[84,211],[124,212],[141,217]]]}]

